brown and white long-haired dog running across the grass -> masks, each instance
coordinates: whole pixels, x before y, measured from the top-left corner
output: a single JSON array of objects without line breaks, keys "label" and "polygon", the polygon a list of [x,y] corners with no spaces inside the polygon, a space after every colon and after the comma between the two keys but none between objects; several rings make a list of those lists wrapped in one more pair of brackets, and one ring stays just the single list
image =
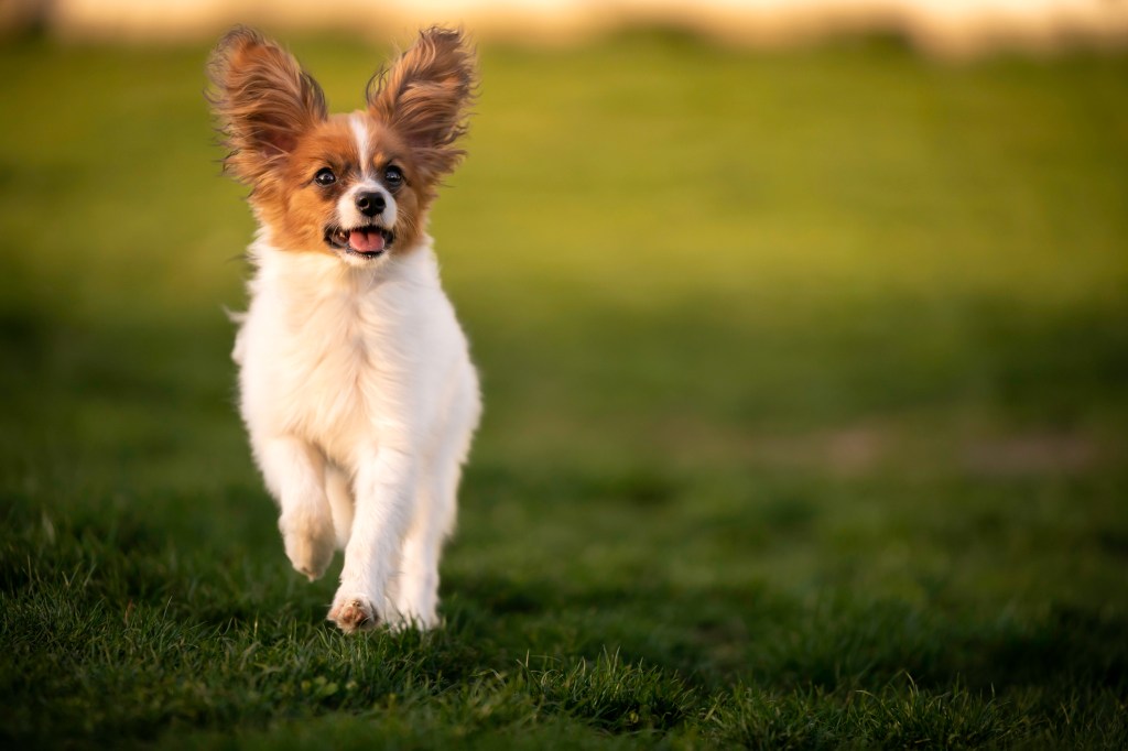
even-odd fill
[{"label": "brown and white long-haired dog running across the grass", "polygon": [[344,550],[343,631],[439,624],[439,557],[482,412],[465,334],[428,236],[465,156],[476,87],[461,32],[429,28],[328,114],[297,60],[236,27],[209,61],[224,173],[258,230],[236,318],[239,408],[293,567]]}]

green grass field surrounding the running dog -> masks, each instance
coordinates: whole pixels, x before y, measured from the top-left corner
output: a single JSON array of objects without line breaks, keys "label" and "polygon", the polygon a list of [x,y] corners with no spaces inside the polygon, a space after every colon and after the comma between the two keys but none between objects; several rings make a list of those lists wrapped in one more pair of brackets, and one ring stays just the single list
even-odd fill
[{"label": "green grass field surrounding the running dog", "polygon": [[6,748],[1128,745],[1128,55],[484,47],[446,627],[359,638],[233,407],[205,55],[0,47]]}]

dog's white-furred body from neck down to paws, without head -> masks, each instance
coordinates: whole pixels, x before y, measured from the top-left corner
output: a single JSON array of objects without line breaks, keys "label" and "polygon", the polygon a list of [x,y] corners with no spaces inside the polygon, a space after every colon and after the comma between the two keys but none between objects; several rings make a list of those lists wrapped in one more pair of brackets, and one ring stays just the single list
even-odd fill
[{"label": "dog's white-furred body from neck down to paws, without head", "polygon": [[235,360],[252,449],[294,568],[345,551],[329,618],[345,630],[438,622],[439,555],[481,413],[477,376],[431,240],[354,266],[250,247]]}]

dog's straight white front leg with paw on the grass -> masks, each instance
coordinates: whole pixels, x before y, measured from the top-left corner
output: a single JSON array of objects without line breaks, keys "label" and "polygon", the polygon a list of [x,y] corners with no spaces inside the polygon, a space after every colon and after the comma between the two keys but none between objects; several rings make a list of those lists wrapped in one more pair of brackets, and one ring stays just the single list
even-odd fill
[{"label": "dog's straight white front leg with paw on the grass", "polygon": [[352,537],[329,610],[329,620],[343,631],[372,628],[393,615],[388,581],[409,520],[416,471],[409,452],[391,448],[380,449],[374,460],[358,468]]}]

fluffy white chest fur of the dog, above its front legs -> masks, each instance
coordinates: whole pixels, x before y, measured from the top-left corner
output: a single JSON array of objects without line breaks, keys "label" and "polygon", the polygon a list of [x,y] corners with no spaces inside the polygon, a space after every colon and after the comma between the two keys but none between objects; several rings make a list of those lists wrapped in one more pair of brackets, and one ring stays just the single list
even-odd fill
[{"label": "fluffy white chest fur of the dog, above its front legs", "polygon": [[261,256],[235,357],[248,424],[301,436],[347,467],[409,416],[415,381],[425,378],[417,348],[433,328],[416,315],[418,298],[432,295],[418,268],[425,259],[385,277],[328,260]]}]

